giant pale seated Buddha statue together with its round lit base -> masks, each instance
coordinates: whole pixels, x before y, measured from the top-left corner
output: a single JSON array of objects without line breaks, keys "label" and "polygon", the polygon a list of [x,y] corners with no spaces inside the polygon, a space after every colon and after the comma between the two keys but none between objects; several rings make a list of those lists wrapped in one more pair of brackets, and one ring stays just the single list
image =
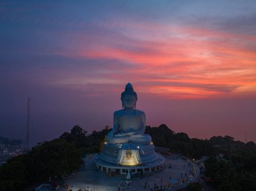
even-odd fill
[{"label": "giant pale seated Buddha statue together with its round lit base", "polygon": [[108,132],[106,143],[94,161],[101,171],[105,168],[123,175],[125,169],[129,179],[129,172],[136,174],[153,167],[156,170],[164,163],[164,157],[154,151],[150,135],[144,134],[146,116],[135,109],[137,93],[131,83],[125,86],[121,101],[123,109],[114,112],[113,129]]}]

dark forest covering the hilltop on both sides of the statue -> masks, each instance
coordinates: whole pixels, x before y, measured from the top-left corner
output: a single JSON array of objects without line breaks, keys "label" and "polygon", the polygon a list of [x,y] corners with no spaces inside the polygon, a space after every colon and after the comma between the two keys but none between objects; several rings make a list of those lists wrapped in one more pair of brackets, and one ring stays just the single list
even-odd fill
[{"label": "dark forest covering the hilltop on both sides of the statue", "polygon": [[[0,190],[24,190],[36,182],[48,182],[50,177],[71,174],[82,165],[86,153],[100,151],[110,130],[106,126],[88,135],[76,125],[58,139],[38,143],[28,154],[13,157],[1,165]],[[209,156],[205,162],[205,174],[212,178],[212,185],[217,190],[256,188],[256,146],[253,142],[245,144],[228,136],[210,140],[190,139],[186,133],[176,133],[165,124],[146,126],[145,133],[152,136],[154,145],[167,147],[172,153],[195,159]],[[216,158],[220,153],[224,159]]]}]

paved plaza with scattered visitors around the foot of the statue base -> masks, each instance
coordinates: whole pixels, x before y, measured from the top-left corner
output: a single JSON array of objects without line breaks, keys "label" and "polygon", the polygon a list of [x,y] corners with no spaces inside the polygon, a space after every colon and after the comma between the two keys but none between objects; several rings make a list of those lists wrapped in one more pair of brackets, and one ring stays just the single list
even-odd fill
[{"label": "paved plaza with scattered visitors around the foot of the statue base", "polygon": [[125,183],[125,176],[109,177],[106,172],[98,171],[92,157],[87,157],[84,161],[85,165],[77,173],[65,179],[65,182],[71,186],[73,191],[80,188],[83,191],[84,189],[92,191],[136,191],[154,190],[156,187],[158,187],[158,190],[160,188],[178,190],[178,188],[185,187],[189,182],[195,182],[199,178],[198,167],[177,155],[166,156],[165,168],[162,171],[154,174],[144,174],[143,178],[140,178],[139,175],[132,176],[129,185]]}]

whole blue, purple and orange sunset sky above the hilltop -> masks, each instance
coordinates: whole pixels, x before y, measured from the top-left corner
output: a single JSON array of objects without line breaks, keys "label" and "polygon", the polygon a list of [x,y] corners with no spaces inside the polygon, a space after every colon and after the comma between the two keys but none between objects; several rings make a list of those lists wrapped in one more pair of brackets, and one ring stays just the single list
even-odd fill
[{"label": "whole blue, purple and orange sunset sky above the hilltop", "polygon": [[1,1],[0,136],[113,124],[132,83],[146,124],[256,142],[256,1]]}]

